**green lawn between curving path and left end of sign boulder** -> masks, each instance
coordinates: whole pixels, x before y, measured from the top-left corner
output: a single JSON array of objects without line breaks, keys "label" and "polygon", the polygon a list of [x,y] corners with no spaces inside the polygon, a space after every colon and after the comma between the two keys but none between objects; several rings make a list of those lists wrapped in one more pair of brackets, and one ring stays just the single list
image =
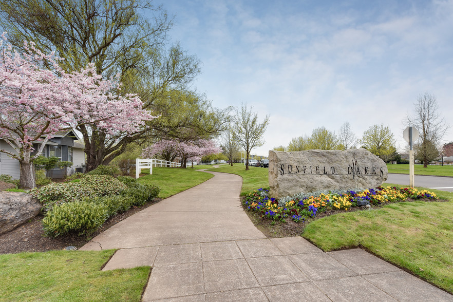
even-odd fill
[{"label": "green lawn between curving path and left end of sign boulder", "polygon": [[231,165],[221,165],[218,168],[211,168],[209,171],[213,172],[224,172],[237,174],[242,177],[242,190],[241,196],[246,195],[252,191],[259,189],[260,187],[268,187],[268,168],[250,167],[249,171],[246,171],[244,164],[236,163]]}]

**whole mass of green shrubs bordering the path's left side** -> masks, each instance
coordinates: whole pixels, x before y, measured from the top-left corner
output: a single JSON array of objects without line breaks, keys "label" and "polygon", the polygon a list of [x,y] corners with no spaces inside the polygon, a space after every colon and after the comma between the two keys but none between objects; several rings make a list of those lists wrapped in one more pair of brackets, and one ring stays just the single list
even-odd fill
[{"label": "whole mass of green shrubs bordering the path's left side", "polygon": [[51,183],[29,191],[47,211],[46,236],[89,235],[109,217],[152,201],[160,191],[155,184],[140,184],[128,176],[84,175],[73,181],[77,182]]}]

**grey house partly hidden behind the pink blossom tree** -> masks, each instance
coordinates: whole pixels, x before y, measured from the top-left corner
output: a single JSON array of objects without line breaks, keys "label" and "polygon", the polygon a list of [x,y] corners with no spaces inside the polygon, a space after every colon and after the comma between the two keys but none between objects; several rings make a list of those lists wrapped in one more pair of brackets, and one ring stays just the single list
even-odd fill
[{"label": "grey house partly hidden behind the pink blossom tree", "polygon": [[[40,142],[33,143],[35,151],[41,147]],[[58,131],[53,138],[49,139],[44,146],[42,155],[45,157],[58,157],[61,161],[71,161],[73,165],[68,168],[67,175],[75,172],[75,168],[85,165],[85,146],[79,140],[79,136],[72,130]],[[4,140],[0,140],[0,149],[14,152],[13,148]],[[36,153],[32,153],[35,155]],[[11,175],[14,179],[20,177],[19,162],[9,155],[0,152],[0,174]],[[47,172],[52,178],[64,177],[64,169],[55,168]]]}]

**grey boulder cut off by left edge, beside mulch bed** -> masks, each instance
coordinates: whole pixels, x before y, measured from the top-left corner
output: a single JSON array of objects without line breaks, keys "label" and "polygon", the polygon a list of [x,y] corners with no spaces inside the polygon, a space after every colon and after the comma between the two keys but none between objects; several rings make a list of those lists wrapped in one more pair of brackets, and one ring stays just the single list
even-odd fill
[{"label": "grey boulder cut off by left edge, beside mulch bed", "polygon": [[40,213],[41,203],[22,192],[0,192],[0,235]]}]

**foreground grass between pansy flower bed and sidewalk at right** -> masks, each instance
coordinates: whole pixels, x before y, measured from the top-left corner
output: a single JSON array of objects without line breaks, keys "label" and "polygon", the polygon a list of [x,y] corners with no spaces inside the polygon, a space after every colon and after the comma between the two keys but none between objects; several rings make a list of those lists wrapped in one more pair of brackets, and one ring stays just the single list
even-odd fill
[{"label": "foreground grass between pansy flower bed and sidewalk at right", "polygon": [[453,293],[453,193],[448,202],[400,202],[309,223],[302,236],[324,251],[362,246]]}]

